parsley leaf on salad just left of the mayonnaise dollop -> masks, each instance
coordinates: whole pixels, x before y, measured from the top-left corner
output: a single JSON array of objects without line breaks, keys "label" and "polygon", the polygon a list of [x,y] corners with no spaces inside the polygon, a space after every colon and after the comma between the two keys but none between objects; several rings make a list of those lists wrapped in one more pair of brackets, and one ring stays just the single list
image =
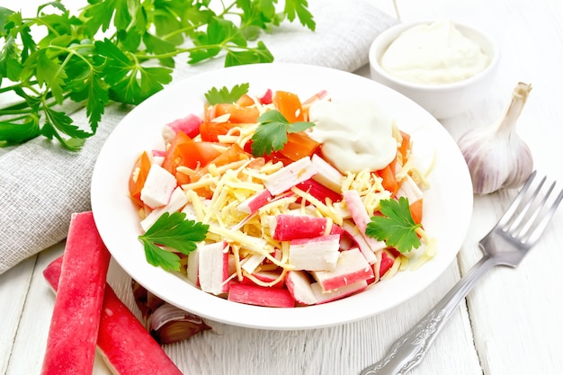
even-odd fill
[{"label": "parsley leaf on salad just left of the mayonnaise dollop", "polygon": [[308,121],[290,123],[277,110],[262,113],[258,121],[260,125],[252,136],[251,147],[254,156],[270,155],[272,151],[279,151],[288,142],[288,133],[298,133],[315,126],[315,123]]}]

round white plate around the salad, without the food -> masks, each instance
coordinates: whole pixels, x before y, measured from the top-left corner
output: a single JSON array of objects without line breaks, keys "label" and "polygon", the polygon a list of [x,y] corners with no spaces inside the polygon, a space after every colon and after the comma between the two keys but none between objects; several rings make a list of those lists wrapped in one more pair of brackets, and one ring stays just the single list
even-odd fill
[{"label": "round white plate around the salad, without the food", "polygon": [[[437,239],[437,254],[416,270],[398,272],[354,296],[306,308],[263,308],[229,302],[207,294],[174,273],[149,265],[138,240],[139,219],[128,197],[132,165],[145,149],[162,148],[162,126],[189,113],[202,113],[204,94],[213,86],[250,84],[250,92],[267,88],[308,98],[325,89],[333,100],[379,101],[409,132],[414,153],[429,163],[435,156],[424,195],[424,228]],[[351,130],[352,131],[352,130]],[[168,86],[131,111],[102,148],[92,179],[94,219],[104,243],[125,272],[147,290],[201,317],[266,329],[335,326],[370,317],[412,298],[451,264],[469,228],[473,194],[463,156],[442,125],[402,94],[368,78],[326,67],[264,64],[228,67]]]}]

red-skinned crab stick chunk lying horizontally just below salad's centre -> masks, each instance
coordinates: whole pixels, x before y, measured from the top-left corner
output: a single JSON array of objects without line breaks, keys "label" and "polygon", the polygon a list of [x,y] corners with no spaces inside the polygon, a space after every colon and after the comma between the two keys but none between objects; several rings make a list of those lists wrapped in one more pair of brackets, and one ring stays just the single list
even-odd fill
[{"label": "red-skinned crab stick chunk lying horizontally just below salad's centre", "polygon": [[273,239],[290,241],[325,235],[328,219],[317,216],[280,214],[274,216],[269,224]]}]

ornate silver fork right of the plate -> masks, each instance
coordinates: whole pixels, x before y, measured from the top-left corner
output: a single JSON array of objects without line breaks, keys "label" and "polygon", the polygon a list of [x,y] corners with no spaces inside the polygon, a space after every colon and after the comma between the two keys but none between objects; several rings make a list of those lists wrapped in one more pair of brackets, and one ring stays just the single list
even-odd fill
[{"label": "ornate silver fork right of the plate", "polygon": [[422,361],[430,344],[442,331],[461,300],[485,272],[495,265],[515,268],[523,260],[548,226],[563,199],[562,190],[548,204],[555,182],[540,197],[546,177],[541,179],[533,192],[528,192],[535,175],[534,171],[495,228],[479,241],[484,255],[478,263],[407,334],[391,345],[380,362],[366,367],[360,375],[406,374]]}]

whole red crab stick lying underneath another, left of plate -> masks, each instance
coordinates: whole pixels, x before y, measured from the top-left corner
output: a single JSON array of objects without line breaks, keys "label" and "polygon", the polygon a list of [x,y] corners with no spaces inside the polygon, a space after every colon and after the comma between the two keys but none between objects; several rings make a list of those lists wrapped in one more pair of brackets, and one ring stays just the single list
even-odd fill
[{"label": "whole red crab stick lying underneath another, left of plate", "polygon": [[[43,270],[45,280],[55,291],[62,262],[61,256]],[[182,374],[109,284],[105,285],[103,294],[97,345],[114,374]]]}]

